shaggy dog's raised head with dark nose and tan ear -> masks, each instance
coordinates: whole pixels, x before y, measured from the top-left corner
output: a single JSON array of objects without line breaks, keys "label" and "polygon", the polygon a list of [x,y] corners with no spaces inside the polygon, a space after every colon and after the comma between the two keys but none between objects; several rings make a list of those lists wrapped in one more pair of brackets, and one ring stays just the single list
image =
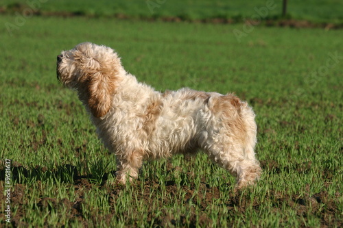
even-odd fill
[{"label": "shaggy dog's raised head with dark nose and tan ear", "polygon": [[58,81],[77,90],[80,100],[95,117],[104,116],[110,110],[121,69],[113,49],[91,42],[83,42],[57,55]]}]

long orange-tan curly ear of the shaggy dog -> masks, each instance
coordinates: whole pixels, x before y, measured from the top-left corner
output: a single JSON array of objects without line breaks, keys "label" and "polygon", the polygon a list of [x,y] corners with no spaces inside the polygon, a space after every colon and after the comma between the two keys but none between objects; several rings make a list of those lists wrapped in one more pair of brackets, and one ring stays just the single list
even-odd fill
[{"label": "long orange-tan curly ear of the shaggy dog", "polygon": [[117,82],[115,68],[106,69],[91,75],[87,84],[87,103],[93,116],[102,117],[109,110],[113,101]]}]

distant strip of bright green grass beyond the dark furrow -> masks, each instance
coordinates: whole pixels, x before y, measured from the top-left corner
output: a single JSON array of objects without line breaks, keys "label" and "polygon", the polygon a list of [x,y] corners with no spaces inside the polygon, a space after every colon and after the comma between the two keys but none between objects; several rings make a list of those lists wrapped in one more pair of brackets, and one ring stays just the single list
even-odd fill
[{"label": "distant strip of bright green grass beyond the dark furrow", "polygon": [[[29,4],[27,2],[32,2]],[[267,15],[262,10],[263,18],[280,18],[282,1],[106,1],[106,0],[86,0],[86,1],[26,1],[26,0],[3,0],[3,9],[7,12],[23,12],[27,8],[39,11],[41,14],[56,12],[62,14],[77,14],[87,16],[113,16],[115,14],[129,17],[143,18],[163,18],[178,17],[185,20],[201,20],[208,18],[225,18],[240,21],[250,18],[256,14],[255,8],[261,10],[270,4]],[[342,7],[340,0],[303,0],[289,1],[288,17],[305,19],[316,22],[342,23]]]}]

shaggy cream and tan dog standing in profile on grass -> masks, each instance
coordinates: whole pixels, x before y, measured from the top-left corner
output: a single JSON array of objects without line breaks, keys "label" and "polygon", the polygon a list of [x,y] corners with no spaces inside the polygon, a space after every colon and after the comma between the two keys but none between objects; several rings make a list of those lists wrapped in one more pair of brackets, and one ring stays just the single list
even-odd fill
[{"label": "shaggy cream and tan dog standing in profile on grass", "polygon": [[57,56],[57,77],[78,92],[115,153],[119,181],[137,178],[145,159],[199,150],[237,177],[237,188],[259,179],[255,114],[234,94],[155,91],[127,73],[113,49],[90,42]]}]

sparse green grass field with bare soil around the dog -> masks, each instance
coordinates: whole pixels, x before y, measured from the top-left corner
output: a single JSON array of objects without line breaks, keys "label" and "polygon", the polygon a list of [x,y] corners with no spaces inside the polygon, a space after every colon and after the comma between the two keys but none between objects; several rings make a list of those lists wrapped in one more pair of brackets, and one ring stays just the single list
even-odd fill
[{"label": "sparse green grass field with bare soil around the dog", "polygon": [[[0,16],[1,226],[342,227],[342,30]],[[6,23],[16,25],[9,31]],[[75,92],[56,80],[56,55],[108,45],[156,90],[235,92],[259,127],[257,186],[205,155],[146,162],[137,181],[108,186],[115,157]]]}]

